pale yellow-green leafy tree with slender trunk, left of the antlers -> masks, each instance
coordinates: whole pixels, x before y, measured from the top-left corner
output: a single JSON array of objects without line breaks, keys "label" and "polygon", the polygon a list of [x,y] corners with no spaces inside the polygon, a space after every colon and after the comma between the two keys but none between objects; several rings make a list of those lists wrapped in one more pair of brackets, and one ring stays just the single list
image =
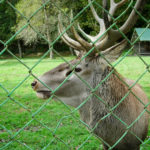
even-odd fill
[{"label": "pale yellow-green leafy tree with slender trunk, left of the antlers", "polygon": [[[41,6],[42,8],[35,13]],[[32,45],[38,42],[47,43],[50,48],[50,43],[57,36],[58,11],[53,3],[48,3],[45,0],[20,0],[16,4],[16,8],[27,19],[17,14],[17,24],[14,30],[20,30],[29,21],[29,25],[17,36],[17,39],[22,39],[25,45]],[[35,15],[32,16],[33,13],[35,13]],[[48,42],[43,40],[40,34],[45,37]],[[52,58],[52,55],[53,53],[51,51],[50,58]]]}]

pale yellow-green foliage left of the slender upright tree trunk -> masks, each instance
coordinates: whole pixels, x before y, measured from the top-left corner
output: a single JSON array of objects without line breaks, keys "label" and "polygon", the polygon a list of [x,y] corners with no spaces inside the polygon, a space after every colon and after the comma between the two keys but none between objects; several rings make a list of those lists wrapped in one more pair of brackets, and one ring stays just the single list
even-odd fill
[{"label": "pale yellow-green foliage left of the slender upright tree trunk", "polygon": [[[26,18],[30,18],[30,16],[41,6],[41,1],[38,0],[20,0],[17,3],[16,8],[20,11]],[[33,18],[31,18],[30,25],[40,30],[39,32],[43,32],[43,24],[44,24],[44,14],[41,10],[41,13],[37,13]],[[15,31],[20,30],[25,24],[27,24],[27,20],[23,18],[20,14],[17,14],[17,24],[14,27]],[[23,39],[25,44],[32,44],[33,42],[38,41],[38,34],[31,28],[31,26],[27,26],[18,36],[17,38]]]}]

